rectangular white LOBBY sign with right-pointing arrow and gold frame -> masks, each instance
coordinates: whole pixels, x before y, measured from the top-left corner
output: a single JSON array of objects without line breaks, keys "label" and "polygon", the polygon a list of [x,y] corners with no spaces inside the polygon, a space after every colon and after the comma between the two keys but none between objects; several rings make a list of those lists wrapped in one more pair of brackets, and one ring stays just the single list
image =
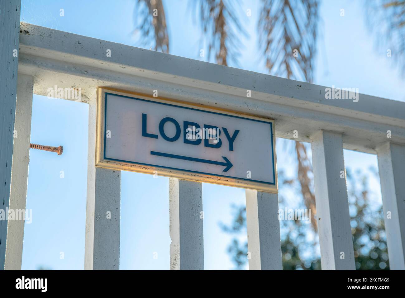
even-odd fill
[{"label": "rectangular white LOBBY sign with right-pointing arrow and gold frame", "polygon": [[277,192],[274,121],[98,89],[96,166]]}]

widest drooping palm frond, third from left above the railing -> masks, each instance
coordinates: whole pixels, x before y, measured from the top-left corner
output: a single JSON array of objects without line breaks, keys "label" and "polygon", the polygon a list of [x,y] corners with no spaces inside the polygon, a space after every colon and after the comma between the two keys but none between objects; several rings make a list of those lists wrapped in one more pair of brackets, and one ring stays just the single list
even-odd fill
[{"label": "widest drooping palm frond, third from left above the railing", "polygon": [[[273,75],[312,82],[318,0],[262,0],[259,47]],[[294,55],[295,54],[295,55]]]}]

